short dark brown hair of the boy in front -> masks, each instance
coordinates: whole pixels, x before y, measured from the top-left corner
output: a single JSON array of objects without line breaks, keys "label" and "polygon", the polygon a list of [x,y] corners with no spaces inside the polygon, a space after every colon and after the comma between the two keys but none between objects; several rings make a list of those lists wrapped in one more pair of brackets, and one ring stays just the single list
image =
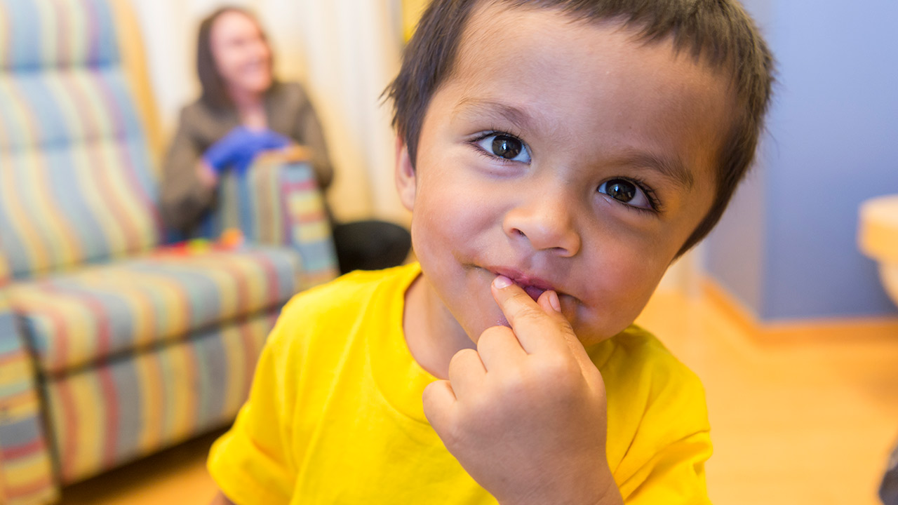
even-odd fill
[{"label": "short dark brown hair of the boy in front", "polygon": [[[402,56],[399,75],[384,92],[393,127],[415,164],[427,106],[453,72],[462,33],[474,7],[487,0],[434,0]],[[709,68],[729,75],[735,91],[733,124],[718,153],[715,199],[677,255],[708,235],[752,164],[770,103],[773,58],[760,32],[735,0],[489,0],[510,7],[550,8],[585,21],[617,21],[644,43],[673,40]]]}]

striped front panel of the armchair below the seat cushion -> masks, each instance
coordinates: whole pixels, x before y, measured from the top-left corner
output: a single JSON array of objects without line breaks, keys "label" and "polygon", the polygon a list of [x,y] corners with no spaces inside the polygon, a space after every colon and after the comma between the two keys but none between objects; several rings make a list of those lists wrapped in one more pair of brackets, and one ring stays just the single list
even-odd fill
[{"label": "striped front panel of the armchair below the seat cushion", "polygon": [[277,312],[48,384],[62,482],[224,425],[246,399]]}]

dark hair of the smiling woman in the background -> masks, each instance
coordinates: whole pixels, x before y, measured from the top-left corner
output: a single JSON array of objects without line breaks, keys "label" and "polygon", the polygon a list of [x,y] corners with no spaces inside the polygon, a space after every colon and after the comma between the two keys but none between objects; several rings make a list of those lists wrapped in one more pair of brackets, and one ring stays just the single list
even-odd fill
[{"label": "dark hair of the smiling woman in the background", "polygon": [[[252,22],[259,27],[262,40],[268,44],[269,38],[259,20],[250,11],[234,5],[227,5],[216,9],[215,12],[206,16],[199,23],[199,32],[197,35],[197,74],[199,75],[199,84],[202,87],[202,94],[199,99],[206,103],[207,107],[212,109],[227,109],[233,107],[231,95],[227,93],[225,79],[218,73],[215,55],[212,53],[212,27],[216,21],[225,13],[242,13],[250,18]],[[271,57],[272,66],[274,64],[274,56]],[[274,84],[274,82],[272,82]]]}]

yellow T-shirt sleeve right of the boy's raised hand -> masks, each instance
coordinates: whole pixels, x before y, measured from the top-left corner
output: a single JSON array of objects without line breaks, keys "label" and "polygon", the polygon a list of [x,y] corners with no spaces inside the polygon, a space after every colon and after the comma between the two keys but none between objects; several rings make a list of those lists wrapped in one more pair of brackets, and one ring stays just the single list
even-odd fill
[{"label": "yellow T-shirt sleeve right of the boy's raised hand", "polygon": [[654,337],[638,334],[622,345],[603,376],[609,444],[616,442],[609,462],[624,502],[709,503],[710,425],[699,377]]}]

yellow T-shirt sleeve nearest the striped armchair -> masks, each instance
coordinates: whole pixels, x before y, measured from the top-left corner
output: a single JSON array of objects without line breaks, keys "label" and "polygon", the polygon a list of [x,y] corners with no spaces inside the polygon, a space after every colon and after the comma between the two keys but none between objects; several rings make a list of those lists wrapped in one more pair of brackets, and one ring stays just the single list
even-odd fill
[{"label": "yellow T-shirt sleeve nearest the striped armchair", "polygon": [[[286,308],[285,308],[286,312]],[[295,484],[295,461],[289,453],[293,392],[282,321],[278,321],[260,355],[250,397],[231,430],[217,439],[207,467],[219,489],[237,505],[289,503]]]}]

